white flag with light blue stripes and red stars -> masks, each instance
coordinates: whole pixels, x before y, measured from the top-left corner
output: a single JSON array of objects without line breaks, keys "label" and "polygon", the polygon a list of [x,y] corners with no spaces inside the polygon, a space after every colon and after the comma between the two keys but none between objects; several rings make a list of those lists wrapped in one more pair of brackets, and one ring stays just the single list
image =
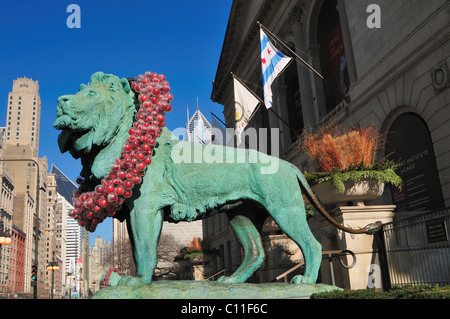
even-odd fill
[{"label": "white flag with light blue stripes and red stars", "polygon": [[278,51],[261,28],[261,66],[264,86],[264,104],[266,108],[272,107],[272,83],[291,62],[291,58]]}]

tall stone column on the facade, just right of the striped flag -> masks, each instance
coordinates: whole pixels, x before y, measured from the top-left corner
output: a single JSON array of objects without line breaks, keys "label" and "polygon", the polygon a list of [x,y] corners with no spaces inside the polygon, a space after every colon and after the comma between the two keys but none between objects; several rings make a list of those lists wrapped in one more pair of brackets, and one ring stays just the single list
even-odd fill
[{"label": "tall stone column on the facade, just right of the striped flag", "polygon": [[[306,52],[305,25],[304,14],[301,10],[294,10],[289,15],[289,23],[291,24],[294,34],[294,44],[297,54],[308,62],[308,58],[301,52]],[[300,52],[301,51],[301,52]],[[318,121],[317,103],[315,102],[315,94],[311,83],[311,70],[297,62],[297,73],[300,86],[300,98],[302,102],[302,113],[304,128],[308,129],[314,126]]]}]

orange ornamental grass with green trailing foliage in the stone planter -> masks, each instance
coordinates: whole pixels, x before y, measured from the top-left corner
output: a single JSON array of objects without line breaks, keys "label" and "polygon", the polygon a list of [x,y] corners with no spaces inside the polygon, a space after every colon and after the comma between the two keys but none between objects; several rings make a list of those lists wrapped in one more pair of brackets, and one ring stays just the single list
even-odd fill
[{"label": "orange ornamental grass with green trailing foliage in the stone planter", "polygon": [[382,141],[383,135],[373,126],[343,130],[328,126],[304,134],[300,148],[315,168],[315,173],[305,172],[304,176],[311,185],[330,181],[341,194],[347,180],[375,179],[378,184],[390,183],[401,189],[402,179],[395,173],[398,164],[376,159]]}]

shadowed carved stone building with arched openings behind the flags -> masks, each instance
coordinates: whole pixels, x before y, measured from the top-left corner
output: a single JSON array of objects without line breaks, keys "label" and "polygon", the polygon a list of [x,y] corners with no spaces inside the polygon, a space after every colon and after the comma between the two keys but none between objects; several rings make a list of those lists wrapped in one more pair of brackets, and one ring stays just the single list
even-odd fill
[{"label": "shadowed carved stone building with arched openings behind the flags", "polygon": [[[371,4],[380,9],[380,28],[368,23]],[[250,121],[249,127],[280,129],[281,158],[305,171],[308,158],[296,147],[304,129],[330,121],[372,124],[387,134],[380,156],[395,151],[405,182],[402,193],[387,188],[377,203],[404,214],[450,206],[449,12],[445,0],[234,0],[211,99],[234,127],[230,72],[263,96],[259,21],[324,78],[290,63],[272,86],[282,120],[261,106]],[[235,269],[240,248],[223,218],[213,216],[204,232],[223,247],[218,270]]]}]

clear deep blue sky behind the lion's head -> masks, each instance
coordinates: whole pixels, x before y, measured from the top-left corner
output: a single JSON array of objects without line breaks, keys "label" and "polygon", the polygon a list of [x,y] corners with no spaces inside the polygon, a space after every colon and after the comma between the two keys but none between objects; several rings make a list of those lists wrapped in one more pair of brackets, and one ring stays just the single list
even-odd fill
[{"label": "clear deep blue sky behind the lion's head", "polygon": [[[69,4],[81,9],[81,28],[70,29]],[[96,71],[133,77],[152,71],[166,75],[174,96],[167,114],[171,130],[186,124],[186,107],[223,118],[210,99],[232,0],[70,0],[7,1],[0,7],[0,126],[5,126],[13,80],[39,82],[41,131],[39,156],[46,156],[70,179],[81,165],[57,145],[53,128],[56,100],[75,94]],[[111,219],[92,239],[111,239]]]}]

